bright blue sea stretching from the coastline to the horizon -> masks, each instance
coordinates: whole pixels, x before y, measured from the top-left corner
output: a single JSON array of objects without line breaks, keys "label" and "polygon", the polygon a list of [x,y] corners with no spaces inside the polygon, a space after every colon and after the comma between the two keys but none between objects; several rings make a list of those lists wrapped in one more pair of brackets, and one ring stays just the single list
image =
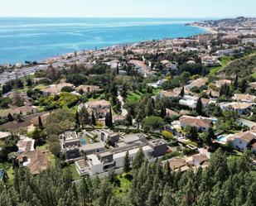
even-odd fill
[{"label": "bright blue sea stretching from the coastline to the horizon", "polygon": [[194,36],[206,31],[185,24],[199,20],[0,18],[0,65],[138,41]]}]

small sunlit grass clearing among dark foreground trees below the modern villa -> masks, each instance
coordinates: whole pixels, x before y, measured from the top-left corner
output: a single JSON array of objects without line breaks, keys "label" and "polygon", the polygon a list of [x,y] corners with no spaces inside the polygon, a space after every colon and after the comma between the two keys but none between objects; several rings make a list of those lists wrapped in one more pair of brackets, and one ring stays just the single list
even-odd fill
[{"label": "small sunlit grass clearing among dark foreground trees below the modern villa", "polygon": [[118,175],[117,178],[119,185],[115,188],[115,194],[125,196],[131,186],[132,175],[123,173],[122,175]]}]

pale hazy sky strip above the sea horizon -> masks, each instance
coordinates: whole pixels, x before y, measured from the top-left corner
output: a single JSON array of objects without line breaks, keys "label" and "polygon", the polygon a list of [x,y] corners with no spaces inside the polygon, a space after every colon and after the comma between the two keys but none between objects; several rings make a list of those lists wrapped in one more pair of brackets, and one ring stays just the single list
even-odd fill
[{"label": "pale hazy sky strip above the sea horizon", "polygon": [[2,17],[256,17],[256,0],[0,0]]}]

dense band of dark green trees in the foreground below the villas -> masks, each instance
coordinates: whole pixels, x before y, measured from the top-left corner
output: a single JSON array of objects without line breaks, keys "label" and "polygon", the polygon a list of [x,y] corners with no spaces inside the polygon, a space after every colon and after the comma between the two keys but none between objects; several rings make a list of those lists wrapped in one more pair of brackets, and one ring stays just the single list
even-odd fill
[{"label": "dense band of dark green trees in the foreground below the villas", "polygon": [[[255,205],[256,172],[248,152],[228,157],[219,149],[206,170],[185,173],[171,171],[161,160],[149,164],[142,158],[138,152],[133,170],[124,175],[129,182],[126,189],[113,172],[104,180],[85,177],[75,185],[70,170],[61,170],[58,163],[35,177],[19,169],[12,186],[2,184],[0,205]],[[127,172],[129,165],[124,165]]]}]

